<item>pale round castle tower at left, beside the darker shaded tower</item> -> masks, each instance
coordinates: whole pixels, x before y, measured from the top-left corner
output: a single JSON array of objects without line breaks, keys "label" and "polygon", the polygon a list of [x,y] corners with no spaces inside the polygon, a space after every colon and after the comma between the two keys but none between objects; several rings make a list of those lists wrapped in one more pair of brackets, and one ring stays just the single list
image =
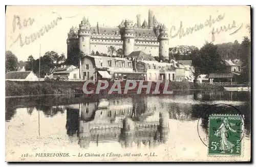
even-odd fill
[{"label": "pale round castle tower at left, beside the darker shaded tower", "polygon": [[86,17],[83,17],[79,24],[78,38],[80,51],[86,55],[90,55],[91,25],[89,19],[86,19]]}]

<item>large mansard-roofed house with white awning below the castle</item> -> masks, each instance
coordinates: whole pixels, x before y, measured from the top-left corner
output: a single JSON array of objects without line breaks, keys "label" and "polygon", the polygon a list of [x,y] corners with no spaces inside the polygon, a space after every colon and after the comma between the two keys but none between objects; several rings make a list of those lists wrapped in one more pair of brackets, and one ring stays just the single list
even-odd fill
[{"label": "large mansard-roofed house with white awning below the castle", "polygon": [[132,61],[126,58],[87,55],[80,62],[83,80],[117,80],[133,72]]}]

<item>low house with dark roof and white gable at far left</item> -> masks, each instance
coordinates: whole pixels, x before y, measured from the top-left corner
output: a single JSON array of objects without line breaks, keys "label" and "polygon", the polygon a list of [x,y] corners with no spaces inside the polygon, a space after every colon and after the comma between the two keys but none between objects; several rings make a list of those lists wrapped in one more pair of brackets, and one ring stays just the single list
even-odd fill
[{"label": "low house with dark roof and white gable at far left", "polygon": [[38,77],[33,71],[10,71],[5,74],[8,81],[38,81]]}]

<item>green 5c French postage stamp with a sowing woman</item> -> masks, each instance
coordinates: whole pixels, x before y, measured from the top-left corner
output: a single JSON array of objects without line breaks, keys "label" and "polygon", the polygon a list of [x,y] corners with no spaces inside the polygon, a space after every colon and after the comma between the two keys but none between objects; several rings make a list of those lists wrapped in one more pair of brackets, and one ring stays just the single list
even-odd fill
[{"label": "green 5c French postage stamp with a sowing woman", "polygon": [[244,129],[241,115],[210,115],[208,155],[241,155]]}]

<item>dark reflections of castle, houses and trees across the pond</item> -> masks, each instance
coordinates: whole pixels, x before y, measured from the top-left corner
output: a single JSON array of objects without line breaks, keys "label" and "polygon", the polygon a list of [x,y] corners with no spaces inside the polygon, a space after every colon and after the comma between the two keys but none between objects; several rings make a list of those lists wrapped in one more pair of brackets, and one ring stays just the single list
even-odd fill
[{"label": "dark reflections of castle, houses and trees across the pond", "polygon": [[[62,126],[70,142],[88,149],[103,142],[117,142],[122,148],[155,148],[166,144],[172,121],[191,122],[201,118],[200,127],[207,132],[208,116],[212,113],[237,114],[232,107],[212,106],[225,103],[238,108],[245,115],[246,134],[250,133],[250,103],[248,92],[193,91],[169,96],[125,97],[34,97],[6,99],[6,122],[15,117],[20,108],[26,108],[28,116],[35,110],[42,112],[39,119],[61,115]],[[205,112],[208,107],[210,112]],[[26,121],[26,120],[22,120]],[[64,127],[65,126],[65,127]],[[38,125],[38,128],[40,126]],[[39,129],[38,129],[39,130]],[[29,131],[28,131],[29,133]]]}]

